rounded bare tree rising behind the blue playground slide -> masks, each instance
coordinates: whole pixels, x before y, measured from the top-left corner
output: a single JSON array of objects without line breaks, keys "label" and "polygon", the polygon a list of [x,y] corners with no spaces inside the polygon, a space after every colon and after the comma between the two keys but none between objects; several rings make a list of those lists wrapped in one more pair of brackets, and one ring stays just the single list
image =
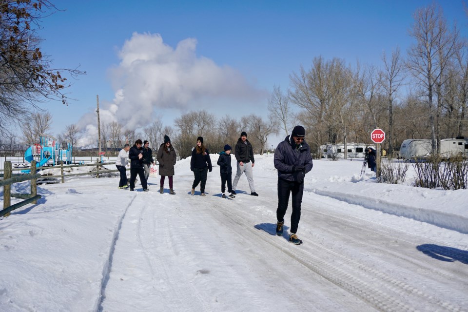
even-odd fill
[{"label": "rounded bare tree rising behind the blue playground slide", "polygon": [[51,137],[52,115],[49,112],[33,112],[27,117],[22,133],[27,144],[39,143],[40,137]]}]

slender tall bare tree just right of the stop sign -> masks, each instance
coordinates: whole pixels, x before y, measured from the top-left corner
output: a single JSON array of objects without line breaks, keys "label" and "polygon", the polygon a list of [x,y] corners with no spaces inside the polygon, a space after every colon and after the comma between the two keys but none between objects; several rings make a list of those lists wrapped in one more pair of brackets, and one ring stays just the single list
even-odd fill
[{"label": "slender tall bare tree just right of the stop sign", "polygon": [[379,73],[379,83],[385,91],[385,96],[388,99],[389,109],[389,130],[387,132],[387,142],[389,150],[387,156],[393,157],[393,102],[396,97],[398,88],[403,84],[405,79],[403,73],[403,61],[400,58],[400,49],[396,48],[391,53],[391,60],[387,59],[385,52],[382,54],[384,62],[384,70]]}]

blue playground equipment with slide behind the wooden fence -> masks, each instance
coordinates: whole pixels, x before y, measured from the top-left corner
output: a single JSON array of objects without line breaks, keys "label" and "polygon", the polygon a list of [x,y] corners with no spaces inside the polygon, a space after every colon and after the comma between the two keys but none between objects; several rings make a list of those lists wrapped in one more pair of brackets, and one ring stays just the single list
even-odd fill
[{"label": "blue playground equipment with slide behind the wooden fence", "polygon": [[42,167],[49,165],[58,165],[61,162],[64,164],[72,163],[72,146],[67,143],[67,149],[64,150],[60,147],[59,142],[49,140],[46,137],[39,138],[40,143],[31,145],[26,152],[24,152],[24,159],[28,162],[32,160],[37,161],[37,166]]}]

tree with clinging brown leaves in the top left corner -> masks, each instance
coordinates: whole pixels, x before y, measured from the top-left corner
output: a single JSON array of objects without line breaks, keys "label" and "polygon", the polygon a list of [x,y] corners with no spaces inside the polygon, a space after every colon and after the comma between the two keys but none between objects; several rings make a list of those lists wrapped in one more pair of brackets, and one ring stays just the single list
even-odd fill
[{"label": "tree with clinging brown leaves in the top left corner", "polygon": [[18,120],[37,103],[58,99],[67,104],[62,76],[85,74],[77,69],[54,69],[40,49],[40,21],[57,9],[48,0],[1,1],[0,18],[0,129],[3,121]]}]

